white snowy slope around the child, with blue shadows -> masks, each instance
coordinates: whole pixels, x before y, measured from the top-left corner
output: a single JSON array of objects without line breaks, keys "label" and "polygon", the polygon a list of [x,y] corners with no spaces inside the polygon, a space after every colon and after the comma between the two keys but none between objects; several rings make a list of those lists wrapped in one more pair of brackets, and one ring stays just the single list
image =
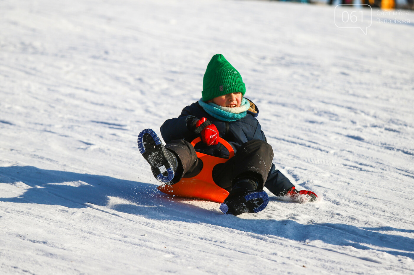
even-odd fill
[{"label": "white snowy slope around the child, with blue shadows", "polygon": [[[358,10],[359,11],[359,10]],[[413,274],[414,16],[267,1],[0,1],[1,274]],[[364,18],[370,17],[364,10]],[[411,23],[408,22],[411,21]],[[256,214],[158,190],[136,141],[223,54],[296,187]]]}]

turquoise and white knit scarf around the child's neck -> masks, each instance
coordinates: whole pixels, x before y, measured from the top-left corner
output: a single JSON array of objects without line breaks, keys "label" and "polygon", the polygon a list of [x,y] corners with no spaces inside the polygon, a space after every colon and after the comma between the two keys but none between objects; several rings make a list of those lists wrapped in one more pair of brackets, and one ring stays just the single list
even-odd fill
[{"label": "turquoise and white knit scarf around the child's neck", "polygon": [[240,107],[223,107],[213,102],[206,103],[200,98],[198,104],[216,119],[222,121],[236,121],[246,116],[247,110],[250,108],[250,102],[246,98],[242,98]]}]

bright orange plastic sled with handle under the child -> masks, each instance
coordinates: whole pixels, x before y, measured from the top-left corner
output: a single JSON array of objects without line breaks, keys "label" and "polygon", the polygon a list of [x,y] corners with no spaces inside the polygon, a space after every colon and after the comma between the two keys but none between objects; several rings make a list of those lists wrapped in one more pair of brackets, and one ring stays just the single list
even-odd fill
[{"label": "bright orange plastic sled with handle under the child", "polygon": [[[195,146],[200,141],[201,138],[197,137],[191,142],[191,145]],[[233,147],[221,137],[219,137],[219,142],[229,150],[229,159],[231,159],[234,156]],[[176,197],[205,199],[219,203],[224,202],[229,192],[214,183],[212,171],[215,165],[225,163],[229,159],[222,159],[200,152],[196,152],[196,154],[203,162],[203,168],[198,175],[193,178],[182,178],[174,185],[160,185],[157,189],[165,194],[175,195]]]}]

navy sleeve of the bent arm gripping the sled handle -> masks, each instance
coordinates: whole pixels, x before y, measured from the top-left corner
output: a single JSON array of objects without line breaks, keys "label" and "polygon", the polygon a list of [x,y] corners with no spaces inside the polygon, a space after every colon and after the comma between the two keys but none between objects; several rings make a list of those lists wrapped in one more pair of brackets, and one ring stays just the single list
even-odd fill
[{"label": "navy sleeve of the bent arm gripping the sled handle", "polygon": [[197,134],[190,131],[188,124],[197,119],[195,116],[191,115],[189,111],[189,106],[185,107],[181,111],[181,115],[173,118],[167,119],[160,128],[161,136],[166,143],[171,140],[193,140],[197,137]]}]

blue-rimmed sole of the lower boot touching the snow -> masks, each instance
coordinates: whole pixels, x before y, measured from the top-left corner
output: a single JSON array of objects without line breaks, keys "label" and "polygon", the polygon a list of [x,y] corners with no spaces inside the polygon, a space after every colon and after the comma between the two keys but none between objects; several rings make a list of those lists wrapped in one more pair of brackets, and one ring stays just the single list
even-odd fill
[{"label": "blue-rimmed sole of the lower boot touching the snow", "polygon": [[[233,202],[222,203],[220,210],[224,214],[238,216],[241,213],[258,213],[264,210],[269,203],[269,197],[263,190],[253,191]],[[234,204],[234,205],[233,205]],[[230,211],[232,212],[230,212]]]}]

